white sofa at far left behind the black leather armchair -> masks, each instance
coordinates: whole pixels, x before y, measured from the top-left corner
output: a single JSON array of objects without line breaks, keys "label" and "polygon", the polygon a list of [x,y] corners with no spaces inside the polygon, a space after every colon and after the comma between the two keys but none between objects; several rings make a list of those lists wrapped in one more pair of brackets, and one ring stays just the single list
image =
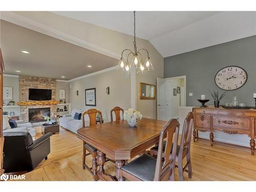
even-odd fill
[{"label": "white sofa at far left behind the black leather armchair", "polygon": [[6,132],[29,132],[32,136],[33,140],[35,140],[36,130],[33,128],[33,125],[31,123],[24,123],[22,120],[16,121],[17,122],[17,128],[11,129],[11,126],[9,124],[9,118],[6,116],[3,116],[3,133]]}]

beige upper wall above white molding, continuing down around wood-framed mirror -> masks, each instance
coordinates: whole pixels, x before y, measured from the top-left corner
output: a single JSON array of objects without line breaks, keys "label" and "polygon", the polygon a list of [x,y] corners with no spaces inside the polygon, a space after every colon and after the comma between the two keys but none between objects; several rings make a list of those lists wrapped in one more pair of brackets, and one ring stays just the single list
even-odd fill
[{"label": "beige upper wall above white molding, continuing down around wood-framed mirror", "polygon": [[[79,20],[63,17],[50,12],[15,12],[27,18],[33,19],[40,24],[47,25],[51,28],[65,32],[69,35],[86,40],[96,46],[100,52],[104,50],[105,54],[114,58],[120,57],[123,49],[133,49],[133,36],[126,35],[117,31],[98,27],[95,25],[80,22]],[[131,18],[132,19],[132,18]],[[139,26],[138,26],[139,27]],[[133,26],[131,26],[131,31]],[[49,35],[49,34],[48,34]],[[140,100],[139,99],[139,83],[146,82],[156,84],[156,78],[163,78],[163,57],[152,46],[152,44],[145,39],[136,38],[137,48],[145,48],[150,53],[154,65],[154,71],[147,74],[137,75],[136,82],[136,101],[137,110],[140,111],[144,117],[157,118],[157,99],[156,100]],[[105,51],[107,50],[107,51]],[[94,50],[97,51],[97,50]],[[109,52],[108,52],[109,51]],[[101,52],[102,53],[102,52]],[[104,54],[104,53],[103,53]],[[124,55],[126,56],[126,55]],[[144,57],[146,55],[143,55]],[[117,63],[113,63],[117,65]],[[113,66],[114,66],[113,65]],[[107,77],[109,78],[109,77]],[[130,100],[126,101],[130,104]]]}]

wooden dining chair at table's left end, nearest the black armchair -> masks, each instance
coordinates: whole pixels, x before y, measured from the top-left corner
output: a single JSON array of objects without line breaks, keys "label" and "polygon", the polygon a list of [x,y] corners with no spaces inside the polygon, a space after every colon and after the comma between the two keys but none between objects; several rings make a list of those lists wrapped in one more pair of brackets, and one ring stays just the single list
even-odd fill
[{"label": "wooden dining chair at table's left end, nearest the black armchair", "polygon": [[[85,126],[85,120],[84,120],[84,116],[88,115],[89,119],[90,119],[90,126],[92,125],[96,125],[96,116],[97,114],[99,114],[100,116],[100,124],[102,123],[102,113],[99,110],[96,109],[89,109],[85,112],[82,113],[82,126]],[[88,151],[89,153],[87,154],[86,151]],[[92,155],[93,159],[92,159],[92,167],[89,167],[86,164],[86,156],[88,155]],[[87,168],[89,170],[89,172],[93,175],[93,179],[94,181],[98,180],[98,176],[97,176],[97,149],[95,147],[93,147],[92,145],[86,143],[83,141],[83,154],[82,154],[82,168],[85,169]]]}]

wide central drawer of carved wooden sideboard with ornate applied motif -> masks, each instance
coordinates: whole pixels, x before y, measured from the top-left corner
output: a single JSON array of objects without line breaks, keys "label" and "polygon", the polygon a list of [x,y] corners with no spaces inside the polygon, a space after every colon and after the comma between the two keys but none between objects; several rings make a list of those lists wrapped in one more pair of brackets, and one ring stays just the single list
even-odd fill
[{"label": "wide central drawer of carved wooden sideboard with ornate applied motif", "polygon": [[214,116],[213,126],[229,130],[250,131],[250,118]]}]

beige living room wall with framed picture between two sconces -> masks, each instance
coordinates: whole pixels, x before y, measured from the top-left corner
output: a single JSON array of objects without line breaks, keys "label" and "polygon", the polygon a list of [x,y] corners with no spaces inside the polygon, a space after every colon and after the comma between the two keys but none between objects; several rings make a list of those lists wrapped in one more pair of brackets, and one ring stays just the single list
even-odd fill
[{"label": "beige living room wall with framed picture between two sconces", "polygon": [[[102,112],[105,122],[110,121],[110,110],[120,106],[124,110],[130,108],[131,90],[130,76],[125,78],[116,70],[100,73],[90,77],[69,82],[71,89],[69,101],[71,109],[88,110],[96,108]],[[106,94],[106,87],[110,87],[110,94]],[[96,106],[86,106],[85,90],[96,88]],[[75,92],[78,90],[78,96]]]}]

